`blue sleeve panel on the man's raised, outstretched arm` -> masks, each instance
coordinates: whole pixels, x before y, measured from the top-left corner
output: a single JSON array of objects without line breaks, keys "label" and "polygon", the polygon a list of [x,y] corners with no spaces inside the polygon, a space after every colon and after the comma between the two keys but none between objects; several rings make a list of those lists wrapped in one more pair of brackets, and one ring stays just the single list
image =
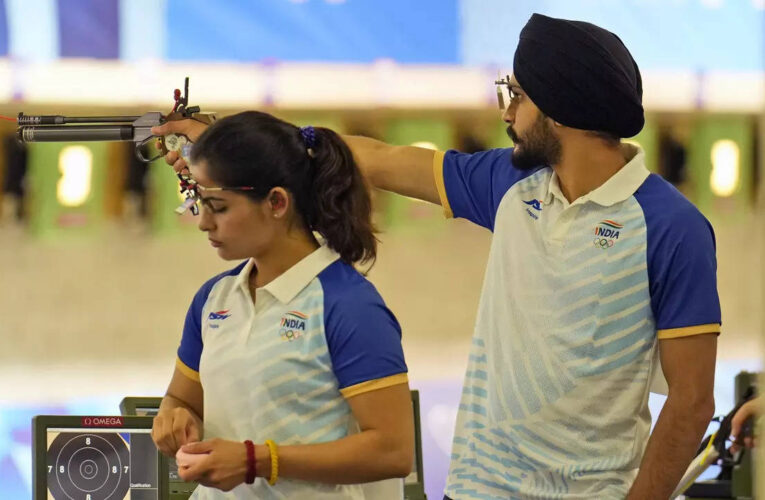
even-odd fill
[{"label": "blue sleeve panel on the man's raised, outstretched arm", "polygon": [[494,230],[497,209],[507,190],[543,168],[521,170],[513,165],[512,154],[513,148],[445,153],[444,187],[455,217]]}]

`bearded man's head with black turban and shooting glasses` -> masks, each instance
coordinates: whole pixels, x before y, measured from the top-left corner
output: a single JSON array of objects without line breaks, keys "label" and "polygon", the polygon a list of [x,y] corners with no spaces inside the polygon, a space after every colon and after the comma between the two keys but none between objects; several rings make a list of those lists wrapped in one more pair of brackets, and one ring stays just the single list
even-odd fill
[{"label": "bearded man's head with black turban and shooting glasses", "polygon": [[504,119],[516,146],[516,167],[560,163],[561,141],[567,139],[614,149],[620,138],[643,128],[640,70],[610,31],[534,14],[521,31],[513,71]]}]

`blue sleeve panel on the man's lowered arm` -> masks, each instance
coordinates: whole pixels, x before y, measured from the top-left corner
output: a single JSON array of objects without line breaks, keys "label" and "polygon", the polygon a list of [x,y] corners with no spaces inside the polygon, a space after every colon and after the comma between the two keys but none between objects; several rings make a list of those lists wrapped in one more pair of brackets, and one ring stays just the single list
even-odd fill
[{"label": "blue sleeve panel on the man's lowered arm", "polygon": [[648,176],[635,192],[635,199],[645,215],[656,329],[720,323],[712,225],[656,174]]}]

